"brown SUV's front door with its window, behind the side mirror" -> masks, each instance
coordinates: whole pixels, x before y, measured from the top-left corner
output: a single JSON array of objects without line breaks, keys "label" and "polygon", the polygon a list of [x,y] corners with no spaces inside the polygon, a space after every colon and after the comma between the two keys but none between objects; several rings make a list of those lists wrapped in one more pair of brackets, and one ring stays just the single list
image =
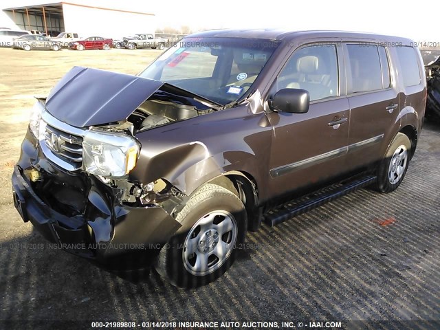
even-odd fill
[{"label": "brown SUV's front door with its window, behind the side mirror", "polygon": [[268,113],[273,126],[270,190],[283,193],[336,177],[345,170],[350,109],[341,96],[338,43],[296,50],[276,78],[270,98],[284,88],[306,89],[307,113]]}]

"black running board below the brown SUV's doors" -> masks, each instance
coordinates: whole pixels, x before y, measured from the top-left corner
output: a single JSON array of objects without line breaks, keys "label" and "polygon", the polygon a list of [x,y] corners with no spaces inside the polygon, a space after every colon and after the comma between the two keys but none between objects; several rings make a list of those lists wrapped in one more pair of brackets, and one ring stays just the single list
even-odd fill
[{"label": "black running board below the brown SUV's doors", "polygon": [[360,179],[354,179],[348,181],[344,184],[337,184],[335,186],[330,186],[324,190],[318,190],[306,197],[300,199],[294,199],[288,203],[285,203],[278,208],[269,210],[265,215],[264,219],[271,227],[279,225],[284,221],[296,217],[297,215],[303,214],[314,208],[318,208],[329,201],[333,201],[339,197],[349,194],[355,190],[369,186],[372,184],[377,177],[375,175],[369,175],[368,177],[362,177]]}]

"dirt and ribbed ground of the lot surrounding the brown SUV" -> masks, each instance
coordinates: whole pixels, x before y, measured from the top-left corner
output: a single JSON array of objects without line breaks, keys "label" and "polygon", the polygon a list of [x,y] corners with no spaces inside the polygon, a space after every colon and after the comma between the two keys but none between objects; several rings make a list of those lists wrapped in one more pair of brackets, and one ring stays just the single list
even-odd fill
[{"label": "dirt and ribbed ground of the lot surrounding the brown SUV", "polygon": [[230,271],[199,289],[154,271],[117,276],[23,223],[10,175],[33,96],[74,65],[136,74],[158,54],[0,49],[0,320],[440,320],[440,123],[426,123],[398,190],[359,190],[264,225]]}]

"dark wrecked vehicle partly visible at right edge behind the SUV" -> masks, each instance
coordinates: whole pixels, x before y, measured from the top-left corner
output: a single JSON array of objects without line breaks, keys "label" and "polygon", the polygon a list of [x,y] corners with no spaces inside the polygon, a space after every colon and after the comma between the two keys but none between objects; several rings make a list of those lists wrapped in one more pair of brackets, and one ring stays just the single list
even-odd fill
[{"label": "dark wrecked vehicle partly visible at right edge behind the SUV", "polygon": [[426,113],[440,119],[440,54],[421,51],[427,80]]}]

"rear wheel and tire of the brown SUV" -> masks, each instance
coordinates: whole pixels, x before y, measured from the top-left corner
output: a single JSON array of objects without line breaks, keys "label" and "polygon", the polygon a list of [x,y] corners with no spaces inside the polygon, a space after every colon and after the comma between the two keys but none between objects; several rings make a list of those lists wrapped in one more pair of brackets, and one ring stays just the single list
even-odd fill
[{"label": "rear wheel and tire of the brown SUV", "polygon": [[397,133],[377,170],[375,190],[380,192],[396,190],[408,170],[410,157],[410,139],[404,133]]}]

